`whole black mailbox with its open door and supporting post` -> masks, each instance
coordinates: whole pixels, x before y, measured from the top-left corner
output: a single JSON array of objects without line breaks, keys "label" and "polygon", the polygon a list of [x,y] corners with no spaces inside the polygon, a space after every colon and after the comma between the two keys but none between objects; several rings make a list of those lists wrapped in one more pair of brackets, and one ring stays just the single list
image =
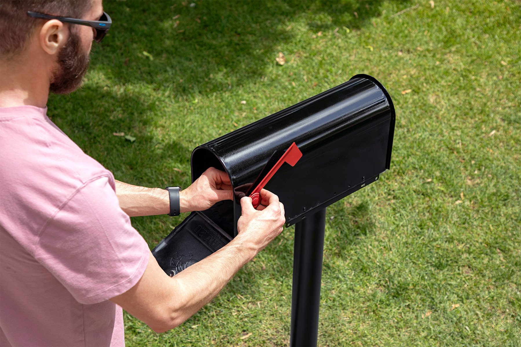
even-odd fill
[{"label": "whole black mailbox with its open door and supporting post", "polygon": [[265,186],[295,226],[290,345],[316,345],[326,207],[389,169],[395,113],[373,77],[348,82],[195,148],[192,182],[210,167],[226,171],[234,200],[191,213],[152,251],[173,276],[237,235],[240,198],[294,142],[302,158],[284,164]]}]

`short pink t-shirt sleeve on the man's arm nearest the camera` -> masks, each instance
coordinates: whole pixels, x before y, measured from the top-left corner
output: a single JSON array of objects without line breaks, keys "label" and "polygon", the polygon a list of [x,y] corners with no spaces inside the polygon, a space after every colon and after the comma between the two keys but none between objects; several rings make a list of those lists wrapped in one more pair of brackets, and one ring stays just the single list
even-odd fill
[{"label": "short pink t-shirt sleeve on the man's arm nearest the camera", "polygon": [[83,304],[132,288],[145,271],[148,254],[108,176],[80,187],[42,230],[35,248],[36,260]]}]

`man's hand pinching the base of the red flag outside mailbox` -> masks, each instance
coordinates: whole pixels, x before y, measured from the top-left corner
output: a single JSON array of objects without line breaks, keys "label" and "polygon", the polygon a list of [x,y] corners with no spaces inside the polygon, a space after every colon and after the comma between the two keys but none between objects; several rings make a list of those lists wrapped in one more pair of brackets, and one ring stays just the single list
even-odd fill
[{"label": "man's hand pinching the base of the red flag outside mailbox", "polygon": [[255,209],[250,197],[241,199],[242,215],[237,222],[237,229],[242,245],[257,253],[282,232],[286,222],[284,205],[272,192],[261,190],[261,204]]}]

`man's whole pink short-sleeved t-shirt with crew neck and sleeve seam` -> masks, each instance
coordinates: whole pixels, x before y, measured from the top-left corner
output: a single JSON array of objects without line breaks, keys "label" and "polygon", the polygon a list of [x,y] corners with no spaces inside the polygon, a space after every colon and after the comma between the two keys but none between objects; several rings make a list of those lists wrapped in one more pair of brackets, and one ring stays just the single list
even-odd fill
[{"label": "man's whole pink short-sleeved t-shirt with crew neck and sleeve seam", "polygon": [[113,175],[47,118],[0,108],[0,345],[124,346],[148,246]]}]

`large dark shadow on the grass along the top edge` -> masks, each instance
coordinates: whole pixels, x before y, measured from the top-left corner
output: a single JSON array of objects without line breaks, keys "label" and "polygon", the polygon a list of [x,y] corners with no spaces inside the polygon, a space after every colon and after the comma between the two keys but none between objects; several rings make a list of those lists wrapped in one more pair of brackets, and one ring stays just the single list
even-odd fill
[{"label": "large dark shadow on the grass along the top edge", "polygon": [[[279,50],[297,47],[291,25],[317,33],[370,24],[380,2],[107,2],[114,25],[91,68],[118,84],[210,94],[264,75]],[[312,12],[313,21],[300,21]],[[356,15],[355,15],[356,12]]]}]

